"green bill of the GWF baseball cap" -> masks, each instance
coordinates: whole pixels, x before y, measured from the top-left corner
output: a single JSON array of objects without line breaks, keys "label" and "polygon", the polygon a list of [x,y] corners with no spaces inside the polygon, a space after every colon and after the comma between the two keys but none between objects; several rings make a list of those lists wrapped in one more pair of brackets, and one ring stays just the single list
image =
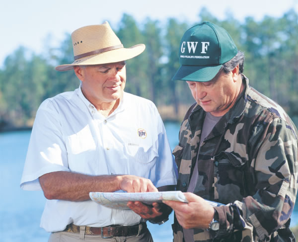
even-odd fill
[{"label": "green bill of the GWF baseball cap", "polygon": [[216,66],[181,66],[172,78],[173,81],[210,81],[220,71],[223,65]]}]

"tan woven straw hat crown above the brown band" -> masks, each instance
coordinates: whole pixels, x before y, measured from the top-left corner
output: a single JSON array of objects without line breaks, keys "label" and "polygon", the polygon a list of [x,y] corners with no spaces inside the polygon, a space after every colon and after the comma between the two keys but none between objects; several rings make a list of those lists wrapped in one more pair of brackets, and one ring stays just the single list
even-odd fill
[{"label": "tan woven straw hat crown above the brown band", "polygon": [[121,45],[109,23],[89,25],[76,29],[72,33],[74,56]]}]

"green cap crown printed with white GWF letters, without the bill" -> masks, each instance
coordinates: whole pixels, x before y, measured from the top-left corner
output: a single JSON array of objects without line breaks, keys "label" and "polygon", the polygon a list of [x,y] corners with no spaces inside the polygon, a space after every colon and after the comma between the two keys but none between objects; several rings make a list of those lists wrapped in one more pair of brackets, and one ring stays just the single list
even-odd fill
[{"label": "green cap crown printed with white GWF letters, without the bill", "polygon": [[188,29],[180,42],[179,62],[186,66],[221,65],[237,54],[227,31],[204,21]]}]

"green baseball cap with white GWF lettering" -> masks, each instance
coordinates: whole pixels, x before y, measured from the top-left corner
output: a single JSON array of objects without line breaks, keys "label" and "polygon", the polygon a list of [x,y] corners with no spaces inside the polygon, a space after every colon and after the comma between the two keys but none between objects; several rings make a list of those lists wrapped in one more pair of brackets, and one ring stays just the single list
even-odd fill
[{"label": "green baseball cap with white GWF lettering", "polygon": [[181,66],[172,80],[210,81],[237,52],[224,28],[204,21],[184,33],[179,45]]}]

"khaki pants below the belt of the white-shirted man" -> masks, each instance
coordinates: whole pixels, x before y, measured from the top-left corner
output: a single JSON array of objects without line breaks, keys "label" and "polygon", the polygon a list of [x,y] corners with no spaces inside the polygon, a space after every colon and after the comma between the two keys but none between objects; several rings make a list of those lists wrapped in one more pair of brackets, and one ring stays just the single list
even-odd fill
[{"label": "khaki pants below the belt of the white-shirted man", "polygon": [[[81,237],[81,239],[80,239]],[[121,236],[102,239],[101,235],[80,235],[71,232],[55,232],[50,235],[48,242],[153,242],[151,234],[147,229],[139,236]]]}]

